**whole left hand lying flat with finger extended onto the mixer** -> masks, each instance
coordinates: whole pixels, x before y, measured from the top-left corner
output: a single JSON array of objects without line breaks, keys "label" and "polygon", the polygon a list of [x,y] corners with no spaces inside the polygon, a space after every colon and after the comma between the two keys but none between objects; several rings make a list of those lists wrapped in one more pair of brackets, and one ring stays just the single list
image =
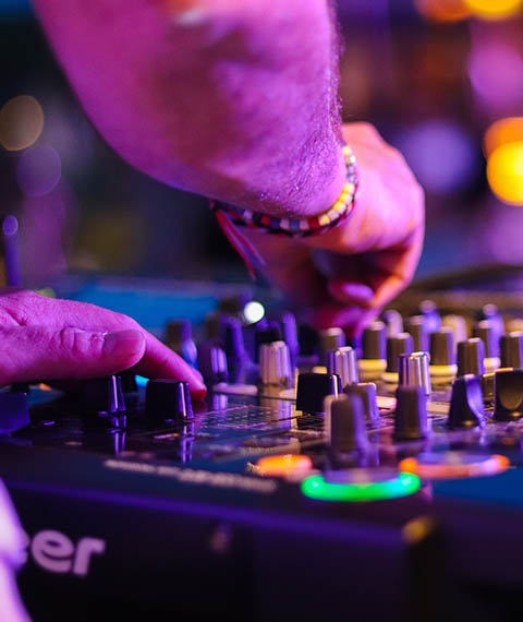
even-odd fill
[{"label": "whole left hand lying flat with finger extended onto the mixer", "polygon": [[199,373],[134,320],[94,304],[0,290],[0,385],[110,375],[134,366],[146,378],[186,380],[205,396]]}]

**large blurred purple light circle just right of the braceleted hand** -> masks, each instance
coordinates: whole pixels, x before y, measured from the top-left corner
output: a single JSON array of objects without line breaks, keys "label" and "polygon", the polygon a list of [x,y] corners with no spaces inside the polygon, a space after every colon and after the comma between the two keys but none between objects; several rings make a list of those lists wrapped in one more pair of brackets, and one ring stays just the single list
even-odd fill
[{"label": "large blurred purple light circle just right of the braceleted hand", "polygon": [[445,194],[466,187],[475,172],[476,148],[462,125],[452,119],[416,123],[397,140],[419,183]]}]

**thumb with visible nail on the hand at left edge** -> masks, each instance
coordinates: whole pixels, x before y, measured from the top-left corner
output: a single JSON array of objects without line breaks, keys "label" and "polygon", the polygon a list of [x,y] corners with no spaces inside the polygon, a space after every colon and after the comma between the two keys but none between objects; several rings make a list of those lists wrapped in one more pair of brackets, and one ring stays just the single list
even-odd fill
[{"label": "thumb with visible nail on the hand at left edge", "polygon": [[0,385],[35,380],[110,375],[137,363],[145,351],[136,330],[16,326],[0,330]]}]

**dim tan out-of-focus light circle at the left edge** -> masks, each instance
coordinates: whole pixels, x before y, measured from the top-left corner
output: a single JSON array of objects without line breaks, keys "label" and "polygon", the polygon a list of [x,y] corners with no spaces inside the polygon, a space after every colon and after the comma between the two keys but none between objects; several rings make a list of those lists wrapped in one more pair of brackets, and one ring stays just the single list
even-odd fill
[{"label": "dim tan out-of-focus light circle at the left edge", "polygon": [[0,109],[0,144],[10,152],[34,144],[44,129],[44,110],[31,95],[19,95]]}]

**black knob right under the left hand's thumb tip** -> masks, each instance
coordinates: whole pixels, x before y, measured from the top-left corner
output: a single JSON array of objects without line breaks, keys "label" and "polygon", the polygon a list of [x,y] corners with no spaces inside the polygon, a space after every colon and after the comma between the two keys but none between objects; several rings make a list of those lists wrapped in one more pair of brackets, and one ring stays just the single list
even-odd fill
[{"label": "black knob right under the left hand's thumb tip", "polygon": [[118,375],[94,378],[83,383],[81,403],[83,414],[98,417],[101,420],[118,424],[112,416],[125,410],[122,384]]}]

